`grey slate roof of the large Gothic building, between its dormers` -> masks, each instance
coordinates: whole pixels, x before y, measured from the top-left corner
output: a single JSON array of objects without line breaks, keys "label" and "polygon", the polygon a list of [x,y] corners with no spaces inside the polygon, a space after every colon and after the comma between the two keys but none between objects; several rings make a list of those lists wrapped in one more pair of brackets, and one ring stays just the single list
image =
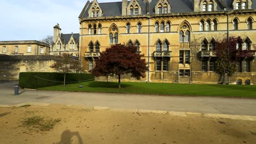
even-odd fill
[{"label": "grey slate roof of the large Gothic building, between its dormers", "polygon": [[[121,1],[121,0],[120,0]],[[193,1],[192,0],[167,0],[171,4],[171,13],[193,13]],[[226,10],[233,10],[231,7],[231,3],[234,0],[216,0],[217,10],[224,11]],[[129,4],[131,1],[127,2]],[[142,15],[147,14],[147,7],[149,8],[149,15],[155,14],[155,5],[158,3],[158,0],[137,0],[139,5],[142,8]],[[88,17],[88,10],[91,6],[92,2],[86,3],[84,9],[82,10],[79,18],[86,18]],[[103,11],[102,17],[104,16],[121,16],[122,15],[122,2],[109,2],[109,3],[99,3],[100,8]],[[252,9],[256,9],[256,3],[252,3]]]}]

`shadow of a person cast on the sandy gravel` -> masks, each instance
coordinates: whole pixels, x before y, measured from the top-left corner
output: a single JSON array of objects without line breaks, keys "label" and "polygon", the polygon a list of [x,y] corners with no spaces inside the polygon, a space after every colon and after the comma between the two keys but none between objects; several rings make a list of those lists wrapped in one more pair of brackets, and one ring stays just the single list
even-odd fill
[{"label": "shadow of a person cast on the sandy gravel", "polygon": [[71,144],[72,143],[71,139],[72,139],[73,136],[77,137],[79,144],[83,144],[84,143],[83,139],[80,136],[78,131],[72,132],[70,130],[65,130],[61,134],[61,141],[58,142],[57,144]]}]

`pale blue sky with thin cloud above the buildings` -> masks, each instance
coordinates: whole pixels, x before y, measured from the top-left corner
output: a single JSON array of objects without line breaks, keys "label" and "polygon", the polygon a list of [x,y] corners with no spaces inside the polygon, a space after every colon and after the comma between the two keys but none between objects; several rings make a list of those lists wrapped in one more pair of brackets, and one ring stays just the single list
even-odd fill
[{"label": "pale blue sky with thin cloud above the buildings", "polygon": [[[0,41],[40,40],[53,35],[53,27],[57,23],[62,33],[79,33],[78,16],[87,1],[1,0]],[[97,1],[105,3],[122,0]]]}]

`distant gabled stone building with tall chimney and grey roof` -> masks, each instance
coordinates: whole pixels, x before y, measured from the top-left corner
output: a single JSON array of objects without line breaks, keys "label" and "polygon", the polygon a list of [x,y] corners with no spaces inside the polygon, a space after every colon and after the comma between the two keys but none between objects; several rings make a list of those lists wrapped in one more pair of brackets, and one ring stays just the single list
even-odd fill
[{"label": "distant gabled stone building with tall chimney and grey roof", "polygon": [[50,55],[69,53],[74,57],[79,56],[79,33],[63,34],[59,23],[54,26],[54,43],[50,49]]}]

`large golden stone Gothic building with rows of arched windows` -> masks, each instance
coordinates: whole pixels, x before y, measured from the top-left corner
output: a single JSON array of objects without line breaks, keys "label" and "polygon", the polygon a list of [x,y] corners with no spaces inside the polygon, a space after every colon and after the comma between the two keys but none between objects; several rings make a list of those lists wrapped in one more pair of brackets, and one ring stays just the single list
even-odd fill
[{"label": "large golden stone Gothic building with rows of arched windows", "polygon": [[[255,8],[252,0],[88,1],[79,15],[79,58],[88,71],[107,47],[130,44],[147,61],[143,81],[218,83],[214,45],[234,36],[241,39],[239,48],[255,50]],[[255,58],[238,62],[229,78],[234,84],[256,84]]]}]

